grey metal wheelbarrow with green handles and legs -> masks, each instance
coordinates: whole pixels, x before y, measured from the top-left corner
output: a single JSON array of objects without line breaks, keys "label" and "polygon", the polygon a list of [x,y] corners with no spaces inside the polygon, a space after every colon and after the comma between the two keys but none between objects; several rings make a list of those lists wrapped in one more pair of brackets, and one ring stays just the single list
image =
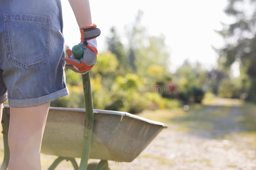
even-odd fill
[{"label": "grey metal wheelbarrow with green handles and legs", "polygon": [[[108,170],[108,160],[131,162],[167,126],[127,112],[93,110],[90,73],[82,75],[85,109],[50,107],[41,153],[58,158],[48,170],[53,170],[62,160],[70,160],[77,170]],[[1,170],[6,170],[10,152],[8,129],[10,107],[4,105],[2,126],[4,160]],[[78,167],[75,158],[81,158]],[[89,163],[88,159],[101,159]]]}]

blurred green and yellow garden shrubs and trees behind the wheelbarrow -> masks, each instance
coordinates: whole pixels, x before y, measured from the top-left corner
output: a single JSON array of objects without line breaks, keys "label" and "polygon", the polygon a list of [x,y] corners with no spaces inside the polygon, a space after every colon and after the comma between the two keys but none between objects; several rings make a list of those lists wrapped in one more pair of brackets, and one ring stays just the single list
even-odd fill
[{"label": "blurred green and yellow garden shrubs and trees behind the wheelbarrow", "polygon": [[[232,8],[227,8],[227,11],[230,15],[237,12]],[[181,104],[201,103],[205,93],[208,98],[209,94],[239,98],[241,94],[246,96],[244,92],[249,94],[253,90],[251,87],[256,83],[253,78],[256,75],[251,74],[253,71],[248,71],[254,69],[250,68],[253,61],[248,62],[251,55],[247,56],[247,60],[245,53],[242,55],[238,52],[241,39],[236,46],[233,44],[232,48],[226,46],[218,51],[218,68],[207,71],[200,63],[192,64],[185,60],[172,74],[169,71],[170,53],[164,35],[148,35],[140,23],[142,15],[139,11],[134,22],[125,28],[128,45],[123,44],[123,37],[121,41],[115,27],[110,29],[106,39],[108,50],[99,53],[97,64],[90,72],[95,109],[139,113],[143,110],[171,109]],[[235,25],[229,28],[219,33],[230,37]],[[254,41],[248,42],[252,47]],[[238,51],[234,51],[234,48]],[[250,52],[247,50],[248,53],[254,50],[250,49]],[[232,59],[233,55],[243,64],[238,78],[230,76],[229,66],[235,61]],[[65,69],[65,73],[69,96],[55,100],[51,105],[84,108],[81,75],[68,69]]]}]

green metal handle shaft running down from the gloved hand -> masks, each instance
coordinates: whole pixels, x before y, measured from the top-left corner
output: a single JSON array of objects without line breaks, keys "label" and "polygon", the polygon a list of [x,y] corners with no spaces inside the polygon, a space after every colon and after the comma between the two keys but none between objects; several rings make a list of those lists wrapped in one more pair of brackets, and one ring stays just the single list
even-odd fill
[{"label": "green metal handle shaft running down from the gloved hand", "polygon": [[84,142],[82,149],[81,162],[79,170],[87,169],[91,140],[92,140],[92,129],[93,129],[93,104],[92,104],[92,90],[91,90],[91,81],[90,81],[90,72],[82,74],[83,79],[83,90],[84,90],[84,102],[86,109],[86,120],[84,127]]}]

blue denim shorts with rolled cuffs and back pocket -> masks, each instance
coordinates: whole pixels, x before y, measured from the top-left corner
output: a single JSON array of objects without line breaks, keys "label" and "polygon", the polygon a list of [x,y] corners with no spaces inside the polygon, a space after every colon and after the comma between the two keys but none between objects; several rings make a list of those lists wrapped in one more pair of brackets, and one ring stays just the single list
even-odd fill
[{"label": "blue denim shorts with rolled cuffs and back pocket", "polygon": [[0,1],[0,103],[28,107],[67,96],[60,0]]}]

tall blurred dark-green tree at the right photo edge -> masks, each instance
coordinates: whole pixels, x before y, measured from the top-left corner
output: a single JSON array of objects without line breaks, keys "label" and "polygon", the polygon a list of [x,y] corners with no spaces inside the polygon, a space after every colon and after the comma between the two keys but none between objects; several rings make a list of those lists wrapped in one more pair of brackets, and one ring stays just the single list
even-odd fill
[{"label": "tall blurred dark-green tree at the right photo edge", "polygon": [[[248,98],[256,101],[256,0],[229,0],[225,13],[234,18],[232,24],[223,24],[220,35],[226,41],[226,46],[219,49],[219,64],[230,68],[235,62],[240,64],[242,79],[251,84]],[[249,7],[249,9],[248,9]]]}]

